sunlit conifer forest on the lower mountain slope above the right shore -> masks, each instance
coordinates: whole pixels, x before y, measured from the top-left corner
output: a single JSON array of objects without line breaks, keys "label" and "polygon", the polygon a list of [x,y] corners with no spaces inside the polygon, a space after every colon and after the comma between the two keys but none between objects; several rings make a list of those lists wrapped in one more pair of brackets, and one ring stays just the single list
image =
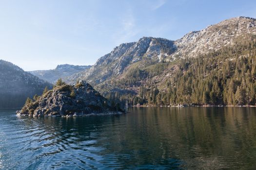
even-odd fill
[{"label": "sunlit conifer forest on the lower mountain slope above the right shore", "polygon": [[[165,69],[171,76],[154,82]],[[174,69],[175,68],[175,69]],[[137,94],[111,92],[105,97],[130,105],[256,105],[256,41],[243,42],[195,58],[133,68],[109,82]]]}]

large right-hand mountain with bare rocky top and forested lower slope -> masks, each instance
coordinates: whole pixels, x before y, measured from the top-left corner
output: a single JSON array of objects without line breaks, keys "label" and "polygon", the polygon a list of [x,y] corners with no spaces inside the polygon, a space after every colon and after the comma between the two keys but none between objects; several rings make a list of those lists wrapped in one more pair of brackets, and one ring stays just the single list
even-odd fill
[{"label": "large right-hand mountain with bare rocky top and forested lower slope", "polygon": [[[233,96],[233,102],[227,102],[225,95],[235,95],[238,87],[238,92],[247,89],[247,97],[254,91],[249,84],[254,85],[255,80],[255,41],[256,19],[235,17],[175,41],[143,37],[121,44],[90,69],[64,80],[71,84],[86,80],[103,96],[131,105],[237,105],[241,104],[238,99]],[[250,80],[246,80],[248,75]],[[230,82],[235,84],[232,93],[227,92]],[[203,98],[207,100],[203,102]],[[248,97],[244,104],[255,104],[254,98]]]}]

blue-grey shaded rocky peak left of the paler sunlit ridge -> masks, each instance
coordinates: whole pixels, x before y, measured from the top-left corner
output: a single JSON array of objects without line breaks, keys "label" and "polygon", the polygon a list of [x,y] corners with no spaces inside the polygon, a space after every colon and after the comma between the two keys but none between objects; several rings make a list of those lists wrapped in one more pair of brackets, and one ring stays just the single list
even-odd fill
[{"label": "blue-grey shaded rocky peak left of the paler sunlit ridge", "polygon": [[174,41],[143,37],[138,42],[119,45],[110,53],[100,57],[90,69],[81,71],[64,80],[75,83],[77,79],[83,79],[92,85],[97,85],[113,76],[121,75],[125,68],[136,65],[139,61],[147,60],[152,64],[158,63],[175,50]]}]

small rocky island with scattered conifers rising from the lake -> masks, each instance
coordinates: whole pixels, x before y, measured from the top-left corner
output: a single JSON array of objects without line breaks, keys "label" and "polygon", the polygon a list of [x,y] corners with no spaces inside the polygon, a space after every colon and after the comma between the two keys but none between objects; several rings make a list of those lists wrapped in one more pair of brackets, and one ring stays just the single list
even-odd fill
[{"label": "small rocky island with scattered conifers rising from the lake", "polygon": [[34,100],[27,99],[17,116],[33,117],[72,117],[91,114],[120,114],[124,111],[102,97],[91,85],[79,81],[67,85],[61,79],[52,90],[45,90]]}]

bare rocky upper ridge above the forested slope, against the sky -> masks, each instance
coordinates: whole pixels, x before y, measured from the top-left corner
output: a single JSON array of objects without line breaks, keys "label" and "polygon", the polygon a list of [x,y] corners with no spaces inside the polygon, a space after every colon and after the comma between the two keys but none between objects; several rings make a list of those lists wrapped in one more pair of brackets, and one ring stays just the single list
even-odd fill
[{"label": "bare rocky upper ridge above the forested slope, against the sky", "polygon": [[[242,34],[243,33],[243,34]],[[118,76],[128,65],[143,59],[151,63],[172,62],[179,58],[193,57],[232,46],[237,39],[247,35],[256,36],[256,19],[234,17],[208,26],[200,31],[185,34],[175,41],[165,38],[142,37],[137,42],[123,43],[110,53],[100,57],[87,71],[74,74],[66,79],[69,83],[86,80],[96,85]]]}]

